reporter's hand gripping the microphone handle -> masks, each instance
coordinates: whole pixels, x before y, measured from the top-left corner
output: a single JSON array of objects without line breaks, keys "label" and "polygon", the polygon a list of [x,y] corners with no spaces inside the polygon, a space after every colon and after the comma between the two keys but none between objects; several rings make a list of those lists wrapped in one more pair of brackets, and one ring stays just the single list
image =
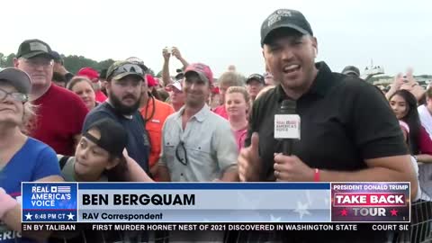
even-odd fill
[{"label": "reporter's hand gripping the microphone handle", "polygon": [[313,182],[315,171],[296,156],[275,154],[275,177],[278,182]]}]

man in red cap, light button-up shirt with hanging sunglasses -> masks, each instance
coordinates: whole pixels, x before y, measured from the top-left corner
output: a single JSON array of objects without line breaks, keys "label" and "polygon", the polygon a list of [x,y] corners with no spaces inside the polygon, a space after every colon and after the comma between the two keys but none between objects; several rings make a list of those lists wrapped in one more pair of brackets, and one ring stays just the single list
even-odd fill
[{"label": "man in red cap, light button-up shirt with hanging sunglasses", "polygon": [[[212,82],[210,67],[201,63],[186,67],[184,106],[166,119],[162,131],[161,181],[238,181],[238,150],[229,121],[211,112],[206,103]],[[221,242],[223,232],[170,232],[173,241],[206,242],[209,238]]]}]

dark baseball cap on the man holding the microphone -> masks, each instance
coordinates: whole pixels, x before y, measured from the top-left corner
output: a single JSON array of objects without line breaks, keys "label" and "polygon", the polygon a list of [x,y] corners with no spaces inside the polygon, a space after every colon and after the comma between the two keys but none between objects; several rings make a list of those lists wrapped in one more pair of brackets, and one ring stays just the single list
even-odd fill
[{"label": "dark baseball cap on the man holding the microphone", "polygon": [[261,25],[261,46],[267,43],[269,34],[277,29],[289,28],[313,36],[311,24],[304,15],[292,9],[278,9]]}]

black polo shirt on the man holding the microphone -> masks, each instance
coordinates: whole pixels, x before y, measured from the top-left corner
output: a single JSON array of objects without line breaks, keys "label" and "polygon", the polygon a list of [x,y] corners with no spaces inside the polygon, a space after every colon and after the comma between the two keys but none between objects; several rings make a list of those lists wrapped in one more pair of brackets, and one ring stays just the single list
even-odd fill
[{"label": "black polo shirt on the man holding the microphone", "polygon": [[[356,77],[332,73],[316,64],[318,75],[307,94],[297,100],[301,139],[293,142],[293,155],[308,166],[354,171],[365,168],[365,159],[408,154],[401,128],[389,103],[379,91]],[[281,85],[254,103],[246,146],[253,131],[259,133],[263,181],[275,180],[274,153],[281,142],[274,139],[275,113],[288,99]]]}]

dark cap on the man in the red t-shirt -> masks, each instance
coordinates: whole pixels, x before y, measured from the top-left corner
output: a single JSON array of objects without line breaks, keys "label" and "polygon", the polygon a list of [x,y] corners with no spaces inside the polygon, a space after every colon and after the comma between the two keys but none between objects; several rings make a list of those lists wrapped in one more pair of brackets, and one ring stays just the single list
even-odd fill
[{"label": "dark cap on the man in the red t-shirt", "polygon": [[37,56],[55,59],[49,45],[38,39],[24,40],[16,52],[16,58],[34,58]]}]

